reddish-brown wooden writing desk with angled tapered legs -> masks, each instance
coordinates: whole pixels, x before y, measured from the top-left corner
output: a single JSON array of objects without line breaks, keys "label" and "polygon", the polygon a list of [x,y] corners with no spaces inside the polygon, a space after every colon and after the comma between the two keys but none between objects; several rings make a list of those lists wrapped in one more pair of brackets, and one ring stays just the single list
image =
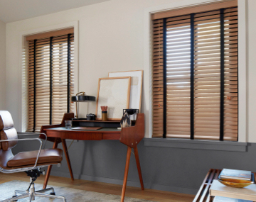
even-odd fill
[{"label": "reddish-brown wooden writing desk with angled tapered legs", "polygon": [[[70,120],[70,118],[74,118],[73,113],[65,113],[63,116],[63,120],[59,125],[43,125],[41,128],[41,133],[46,133],[47,140],[53,142],[53,148],[57,148],[58,144],[61,142],[63,145],[63,151],[65,153],[65,157],[68,163],[68,169],[70,171],[71,179],[74,180],[73,171],[70,164],[70,158],[68,155],[68,149],[65,140],[120,140],[124,145],[127,145],[127,160],[126,166],[124,170],[124,184],[122,190],[122,199],[124,201],[124,194],[127,184],[127,176],[129,170],[129,159],[131,156],[132,148],[134,148],[134,155],[137,162],[137,169],[139,172],[139,180],[142,186],[142,190],[144,190],[144,184],[142,180],[142,171],[139,164],[139,153],[137,150],[137,144],[144,138],[144,114],[137,115],[137,121],[134,126],[128,128],[122,128],[122,130],[118,130],[119,122],[117,121],[82,121],[79,123],[78,120],[73,121],[73,126],[95,126],[102,127],[100,130],[73,130],[65,128],[65,120]],[[81,125],[82,124],[82,125]],[[41,138],[44,138],[41,135]],[[48,167],[46,173],[46,179],[43,184],[43,189],[46,188],[48,184],[48,179],[50,176],[50,170],[52,166]]]}]

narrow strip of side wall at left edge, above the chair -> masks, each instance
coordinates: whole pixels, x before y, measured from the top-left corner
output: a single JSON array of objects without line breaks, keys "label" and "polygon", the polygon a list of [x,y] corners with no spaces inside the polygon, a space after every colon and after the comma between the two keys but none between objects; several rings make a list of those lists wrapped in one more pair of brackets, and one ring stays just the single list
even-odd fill
[{"label": "narrow strip of side wall at left edge, above the chair", "polygon": [[0,110],[6,109],[6,23],[0,21]]}]

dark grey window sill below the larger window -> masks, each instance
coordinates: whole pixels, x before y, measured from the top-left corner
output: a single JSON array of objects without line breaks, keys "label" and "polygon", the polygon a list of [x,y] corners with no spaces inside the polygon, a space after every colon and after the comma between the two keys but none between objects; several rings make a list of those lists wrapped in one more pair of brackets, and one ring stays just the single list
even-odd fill
[{"label": "dark grey window sill below the larger window", "polygon": [[171,138],[144,138],[146,147],[169,147],[192,150],[218,150],[247,152],[247,142],[222,142],[214,140],[183,140]]}]

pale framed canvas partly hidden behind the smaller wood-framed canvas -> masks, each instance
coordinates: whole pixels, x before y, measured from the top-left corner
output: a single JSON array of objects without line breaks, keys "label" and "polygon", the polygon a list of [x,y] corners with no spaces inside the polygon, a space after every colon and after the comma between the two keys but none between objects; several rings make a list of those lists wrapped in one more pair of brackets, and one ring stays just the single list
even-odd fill
[{"label": "pale framed canvas partly hidden behind the smaller wood-framed canvas", "polygon": [[[139,109],[140,112],[142,105],[143,70],[134,70],[127,72],[110,72],[109,77],[132,77],[129,108]],[[133,116],[130,116],[130,118],[131,120],[134,119]]]}]

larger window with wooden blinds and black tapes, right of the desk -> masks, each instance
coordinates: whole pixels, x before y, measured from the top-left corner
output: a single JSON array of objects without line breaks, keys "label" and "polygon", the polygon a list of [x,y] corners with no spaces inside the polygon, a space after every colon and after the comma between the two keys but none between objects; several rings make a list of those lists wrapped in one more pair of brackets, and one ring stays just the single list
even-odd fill
[{"label": "larger window with wooden blinds and black tapes, right of the desk", "polygon": [[237,1],[152,15],[153,137],[238,140]]}]

